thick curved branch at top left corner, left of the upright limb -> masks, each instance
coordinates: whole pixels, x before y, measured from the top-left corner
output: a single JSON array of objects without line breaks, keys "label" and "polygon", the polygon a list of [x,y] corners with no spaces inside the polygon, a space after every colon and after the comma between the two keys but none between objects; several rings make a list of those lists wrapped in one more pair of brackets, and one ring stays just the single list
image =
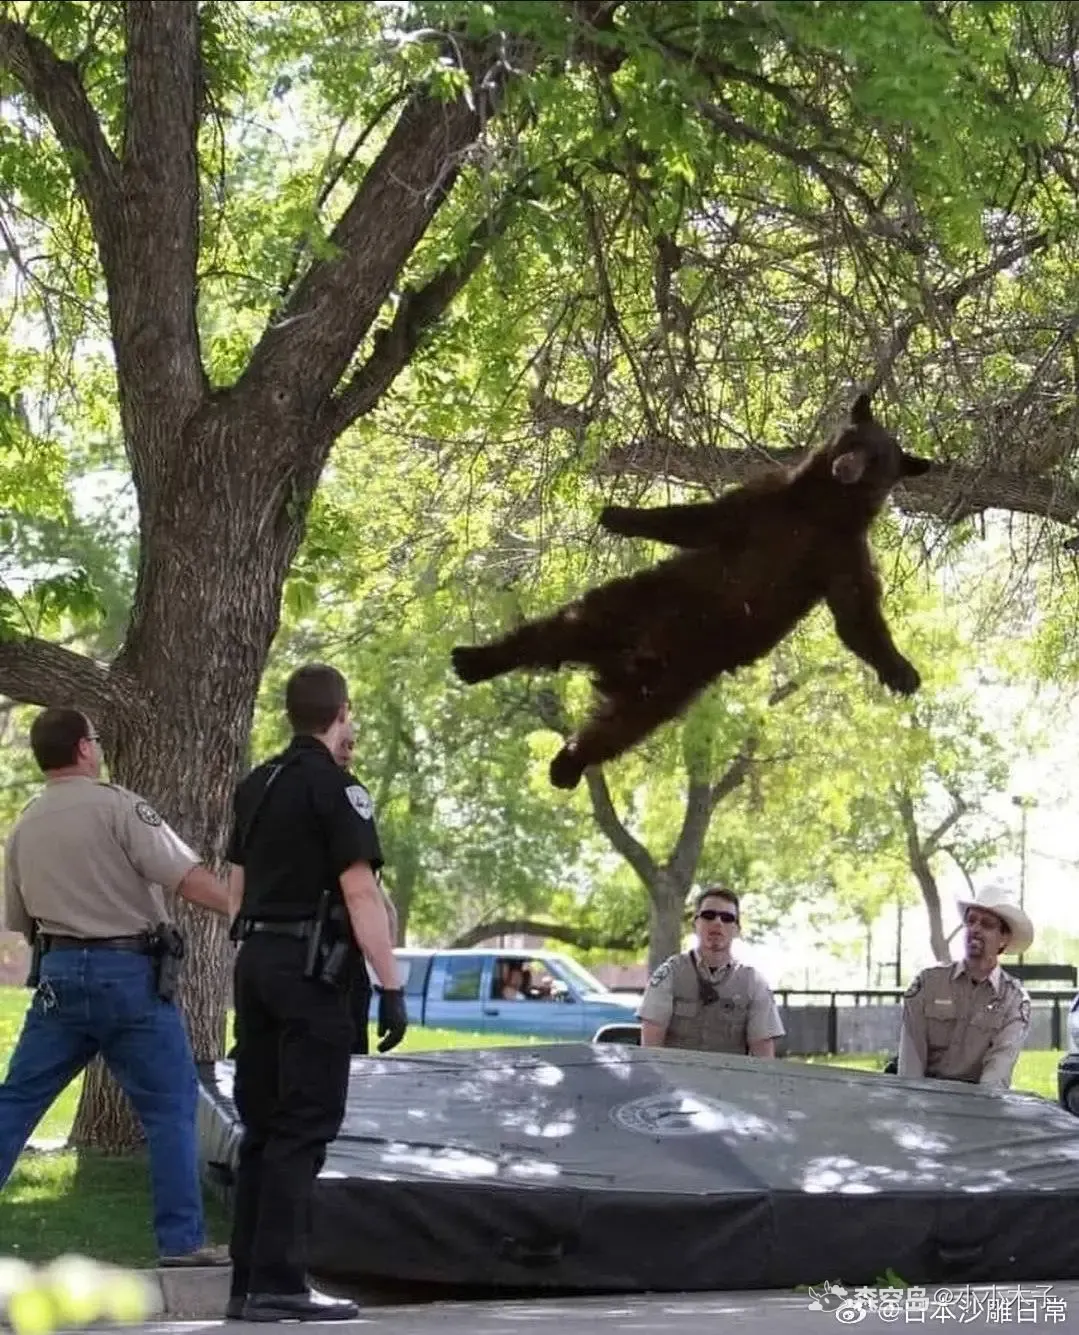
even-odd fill
[{"label": "thick curved branch at top left corner, left of the upright limb", "polygon": [[77,69],[13,19],[0,19],[0,68],[19,80],[52,124],[100,244],[116,224],[120,164]]}]

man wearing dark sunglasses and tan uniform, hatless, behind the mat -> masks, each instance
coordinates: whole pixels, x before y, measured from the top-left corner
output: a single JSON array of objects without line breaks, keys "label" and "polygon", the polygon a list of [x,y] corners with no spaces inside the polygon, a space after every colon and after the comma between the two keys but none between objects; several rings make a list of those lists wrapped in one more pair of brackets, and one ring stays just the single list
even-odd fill
[{"label": "man wearing dark sunglasses and tan uniform, hatless, behind the mat", "polygon": [[740,930],[738,897],[722,885],[701,890],[693,912],[697,949],[672,955],[649,979],[637,1017],[645,1048],[694,1048],[775,1057],[787,1032],[772,989],[730,957]]}]

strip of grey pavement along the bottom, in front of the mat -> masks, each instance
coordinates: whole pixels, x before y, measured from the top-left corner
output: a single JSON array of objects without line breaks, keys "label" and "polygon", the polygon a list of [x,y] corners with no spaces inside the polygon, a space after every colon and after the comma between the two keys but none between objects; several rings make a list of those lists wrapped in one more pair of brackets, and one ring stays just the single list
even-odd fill
[{"label": "strip of grey pavement along the bottom, in front of the mat", "polygon": [[[689,1295],[648,1295],[641,1298],[537,1299],[527,1302],[427,1303],[365,1308],[351,1323],[308,1326],[312,1335],[331,1335],[365,1327],[365,1335],[584,1335],[633,1331],[636,1335],[815,1335],[836,1326],[857,1326],[860,1331],[896,1327],[961,1330],[963,1332],[1010,1330],[1079,1331],[1079,1283],[1028,1284],[1011,1287],[931,1288],[924,1306],[896,1295],[899,1303],[876,1312],[852,1306],[813,1311],[808,1294],[724,1292]],[[839,1303],[839,1299],[831,1299]],[[198,1335],[199,1331],[227,1331],[254,1335],[266,1327],[231,1322],[158,1323],[140,1327],[146,1335]],[[298,1330],[290,1326],[290,1330]]]}]

